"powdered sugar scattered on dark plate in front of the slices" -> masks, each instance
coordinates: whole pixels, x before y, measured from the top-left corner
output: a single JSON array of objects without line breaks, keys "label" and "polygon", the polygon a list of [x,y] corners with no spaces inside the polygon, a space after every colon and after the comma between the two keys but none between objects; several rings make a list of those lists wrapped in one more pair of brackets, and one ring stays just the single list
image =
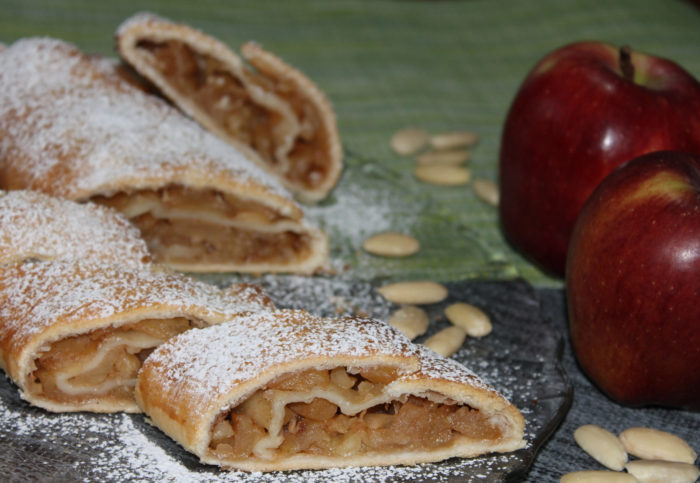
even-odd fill
[{"label": "powdered sugar scattered on dark plate in front of the slices", "polygon": [[[7,381],[0,384],[9,385]],[[13,388],[3,387],[3,394]],[[10,398],[11,399],[11,398]],[[503,471],[512,464],[508,455],[461,460],[458,464],[441,466],[422,464],[410,467],[333,468],[319,471],[284,473],[246,473],[219,471],[215,467],[199,465],[188,468],[182,461],[182,451],[169,441],[155,441],[144,432],[141,415],[111,414],[50,414],[27,410],[23,403],[0,399],[0,448],[5,445],[26,444],[33,441],[39,446],[52,446],[57,458],[66,452],[75,456],[71,466],[75,473],[91,481],[174,481],[174,482],[290,482],[338,483],[357,481],[448,481],[455,476],[469,474],[473,478],[489,478],[489,469]],[[51,435],[74,435],[59,437]],[[5,441],[5,442],[2,442]],[[1,463],[1,462],[0,462]],[[33,465],[36,462],[27,461]],[[2,465],[0,464],[0,467]],[[65,475],[70,478],[71,475]]]}]

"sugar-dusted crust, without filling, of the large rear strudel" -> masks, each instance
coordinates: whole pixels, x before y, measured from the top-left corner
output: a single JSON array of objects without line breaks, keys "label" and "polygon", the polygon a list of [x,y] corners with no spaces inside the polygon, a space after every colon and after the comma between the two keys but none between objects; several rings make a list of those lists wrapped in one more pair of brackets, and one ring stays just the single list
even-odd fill
[{"label": "sugar-dusted crust, without filling, of the large rear strudel", "polygon": [[[244,259],[181,260],[179,269],[310,273],[326,263],[325,235],[304,221],[301,208],[269,174],[70,44],[30,38],[0,51],[0,136],[2,189],[79,201],[141,192],[163,197],[178,189],[213,193],[229,204],[274,213],[266,230],[305,241],[290,260],[252,266]],[[256,225],[243,231],[255,236]]]}]

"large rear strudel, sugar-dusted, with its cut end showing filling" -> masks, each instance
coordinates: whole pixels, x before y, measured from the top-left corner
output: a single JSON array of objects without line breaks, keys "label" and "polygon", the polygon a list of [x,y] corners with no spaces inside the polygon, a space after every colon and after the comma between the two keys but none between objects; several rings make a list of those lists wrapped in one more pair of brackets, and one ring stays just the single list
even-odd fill
[{"label": "large rear strudel, sugar-dusted, with its cut end showing filling", "polygon": [[0,188],[124,213],[189,271],[310,273],[327,240],[240,151],[109,65],[52,39],[0,51]]}]

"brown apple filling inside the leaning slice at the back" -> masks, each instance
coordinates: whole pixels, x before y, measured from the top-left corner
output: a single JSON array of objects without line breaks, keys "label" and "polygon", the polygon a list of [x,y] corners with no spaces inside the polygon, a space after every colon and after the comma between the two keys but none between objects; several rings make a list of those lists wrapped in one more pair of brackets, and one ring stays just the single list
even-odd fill
[{"label": "brown apple filling inside the leaning slice at the back", "polygon": [[253,148],[272,170],[307,188],[325,179],[331,141],[318,110],[289,81],[269,69],[232,73],[177,40],[142,40],[137,49],[221,133]]}]

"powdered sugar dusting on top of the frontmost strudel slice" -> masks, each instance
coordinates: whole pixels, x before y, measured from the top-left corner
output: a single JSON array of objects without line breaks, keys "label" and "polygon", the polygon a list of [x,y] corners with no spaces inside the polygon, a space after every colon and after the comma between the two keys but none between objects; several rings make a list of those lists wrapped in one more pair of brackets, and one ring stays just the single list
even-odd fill
[{"label": "powdered sugar dusting on top of the frontmost strudel slice", "polygon": [[[176,399],[207,400],[290,362],[373,355],[417,363],[416,349],[392,327],[371,319],[330,319],[302,311],[258,312],[158,347],[144,363],[164,392]],[[212,396],[214,395],[214,396]]]}]

